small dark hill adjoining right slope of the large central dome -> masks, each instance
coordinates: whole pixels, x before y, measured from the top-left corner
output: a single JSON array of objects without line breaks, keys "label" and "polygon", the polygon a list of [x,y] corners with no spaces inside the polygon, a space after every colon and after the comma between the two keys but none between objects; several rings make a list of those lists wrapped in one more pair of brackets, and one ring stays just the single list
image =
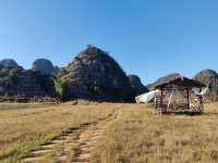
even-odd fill
[{"label": "small dark hill adjoining right slope of the large central dome", "polygon": [[129,75],[128,77],[135,96],[149,91],[148,88],[142,84],[141,78],[137,75]]}]

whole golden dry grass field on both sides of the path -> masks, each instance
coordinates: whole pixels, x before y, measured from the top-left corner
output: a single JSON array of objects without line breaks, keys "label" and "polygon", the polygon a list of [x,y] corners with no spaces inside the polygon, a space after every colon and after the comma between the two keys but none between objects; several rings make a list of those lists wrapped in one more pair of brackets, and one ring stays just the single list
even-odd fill
[{"label": "whole golden dry grass field on both sides of the path", "polygon": [[[75,104],[75,103],[74,103]],[[0,162],[21,162],[62,130],[119,111],[92,151],[94,163],[218,162],[218,103],[203,115],[156,115],[152,105],[82,103],[1,104]],[[46,161],[46,162],[52,162]]]}]

